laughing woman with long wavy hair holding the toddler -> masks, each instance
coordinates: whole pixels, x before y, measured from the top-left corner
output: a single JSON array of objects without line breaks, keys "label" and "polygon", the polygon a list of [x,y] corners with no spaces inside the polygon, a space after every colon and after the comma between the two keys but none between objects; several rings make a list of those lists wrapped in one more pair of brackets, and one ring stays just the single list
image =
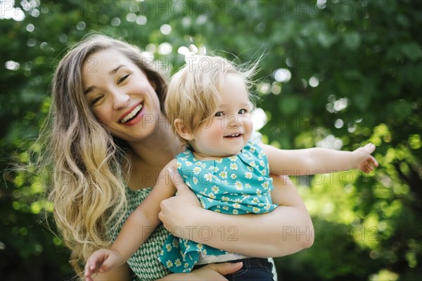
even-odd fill
[{"label": "laughing woman with long wavy hair holding the toddler", "polygon": [[[161,169],[182,151],[162,113],[165,78],[149,62],[134,46],[94,35],[73,47],[56,70],[41,151],[56,171],[50,200],[77,274],[92,252],[111,244],[127,216],[151,192]],[[258,251],[259,256],[283,256],[312,245],[312,235],[292,233],[309,234],[312,222],[288,178],[274,178],[274,184],[283,184],[281,196],[295,204],[255,216],[202,209],[181,181],[176,184],[178,195],[160,205],[163,225],[127,262],[141,280],[224,280],[222,275],[241,268],[237,263],[210,264],[169,275],[157,259],[168,235],[165,228],[250,256]],[[205,237],[204,228],[212,235]],[[128,279],[127,265],[96,276]]]}]

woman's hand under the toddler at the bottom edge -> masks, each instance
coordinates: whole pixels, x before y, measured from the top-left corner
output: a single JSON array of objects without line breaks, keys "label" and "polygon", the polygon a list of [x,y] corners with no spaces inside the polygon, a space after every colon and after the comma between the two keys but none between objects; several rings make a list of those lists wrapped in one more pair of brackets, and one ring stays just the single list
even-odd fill
[{"label": "woman's hand under the toddler at the bottom edge", "polygon": [[242,263],[210,263],[191,273],[174,273],[160,280],[227,280],[224,275],[235,273],[242,268]]}]

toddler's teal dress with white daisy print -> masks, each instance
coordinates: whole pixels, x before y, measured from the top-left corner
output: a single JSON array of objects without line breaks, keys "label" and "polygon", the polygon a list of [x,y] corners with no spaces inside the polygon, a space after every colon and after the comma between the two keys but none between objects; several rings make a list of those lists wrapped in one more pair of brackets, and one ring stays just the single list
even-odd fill
[{"label": "toddler's teal dress with white daisy print", "polygon": [[[199,160],[191,150],[176,156],[177,170],[205,209],[224,214],[262,214],[272,204],[272,179],[267,156],[259,145],[248,143],[238,155],[218,160]],[[200,253],[227,254],[205,244],[169,235],[159,261],[174,273],[190,272]]]}]

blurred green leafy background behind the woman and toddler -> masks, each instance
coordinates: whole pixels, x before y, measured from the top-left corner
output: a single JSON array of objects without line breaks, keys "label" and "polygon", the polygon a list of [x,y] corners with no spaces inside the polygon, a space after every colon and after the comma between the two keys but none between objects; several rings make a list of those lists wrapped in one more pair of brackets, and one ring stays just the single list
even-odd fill
[{"label": "blurred green leafy background behind the woman and toddler", "polygon": [[5,170],[37,137],[65,49],[91,31],[136,44],[169,74],[188,51],[243,63],[266,53],[256,87],[265,142],[353,150],[371,141],[380,164],[369,176],[292,171],[315,242],[276,259],[280,280],[421,277],[421,27],[419,0],[1,0],[2,280],[72,277],[68,251],[41,223],[53,209],[38,196],[48,176]]}]

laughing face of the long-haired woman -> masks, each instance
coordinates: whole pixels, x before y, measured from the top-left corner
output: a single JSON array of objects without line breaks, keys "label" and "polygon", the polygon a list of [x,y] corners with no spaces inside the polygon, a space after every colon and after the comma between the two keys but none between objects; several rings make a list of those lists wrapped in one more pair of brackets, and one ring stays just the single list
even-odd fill
[{"label": "laughing face of the long-haired woman", "polygon": [[98,121],[124,141],[149,136],[157,119],[164,118],[155,85],[119,51],[89,55],[82,65],[82,86]]}]

